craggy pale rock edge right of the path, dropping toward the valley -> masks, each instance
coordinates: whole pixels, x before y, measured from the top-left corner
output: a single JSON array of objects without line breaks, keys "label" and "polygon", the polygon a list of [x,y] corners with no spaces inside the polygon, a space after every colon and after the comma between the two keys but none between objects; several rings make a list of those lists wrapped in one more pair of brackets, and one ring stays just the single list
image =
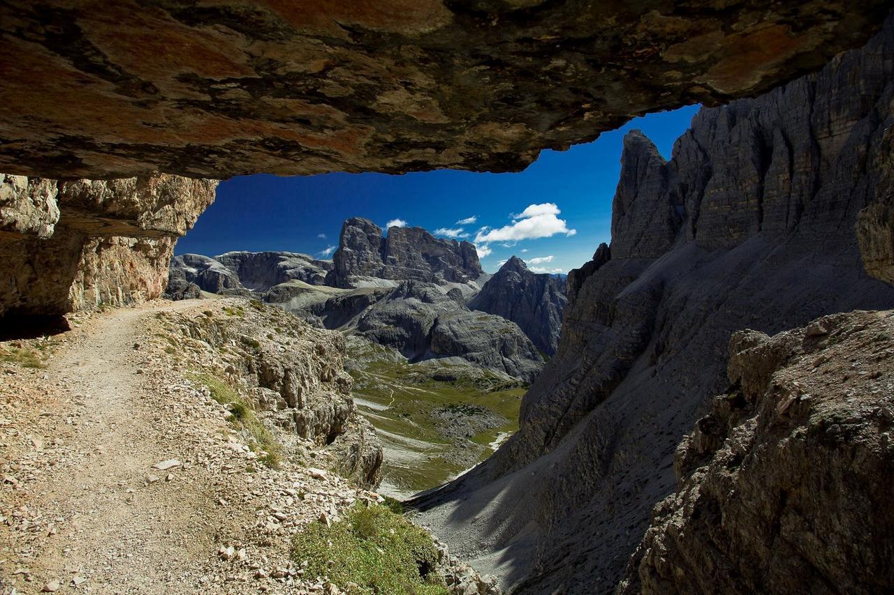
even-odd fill
[{"label": "craggy pale rock edge right of the path, dropping toward the valley", "polygon": [[257,302],[215,300],[207,308],[168,314],[174,330],[212,348],[194,356],[203,369],[239,387],[266,423],[333,451],[333,465],[358,485],[378,485],[382,447],[350,396],[342,334]]}]

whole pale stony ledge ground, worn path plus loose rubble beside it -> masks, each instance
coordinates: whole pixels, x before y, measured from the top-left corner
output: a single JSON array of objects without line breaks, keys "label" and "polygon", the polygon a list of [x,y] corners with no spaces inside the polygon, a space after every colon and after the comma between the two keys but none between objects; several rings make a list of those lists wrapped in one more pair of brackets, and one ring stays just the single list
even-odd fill
[{"label": "whole pale stony ledge ground, worn path plus loose rubble beside it", "polygon": [[339,592],[301,576],[289,538],[377,497],[257,461],[157,340],[161,313],[206,307],[0,343],[0,593]]}]

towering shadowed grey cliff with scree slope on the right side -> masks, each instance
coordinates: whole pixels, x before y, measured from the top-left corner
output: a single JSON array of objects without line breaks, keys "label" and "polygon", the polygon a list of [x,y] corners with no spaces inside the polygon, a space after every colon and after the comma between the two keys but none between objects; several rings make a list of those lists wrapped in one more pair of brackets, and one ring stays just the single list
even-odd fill
[{"label": "towering shadowed grey cliff with scree slope on the right side", "polygon": [[856,233],[890,175],[892,98],[889,22],[815,75],[703,109],[669,162],[628,135],[611,248],[569,275],[559,350],[519,432],[417,499],[422,520],[513,592],[611,591],[674,489],[679,440],[727,386],[730,336],[894,303]]}]

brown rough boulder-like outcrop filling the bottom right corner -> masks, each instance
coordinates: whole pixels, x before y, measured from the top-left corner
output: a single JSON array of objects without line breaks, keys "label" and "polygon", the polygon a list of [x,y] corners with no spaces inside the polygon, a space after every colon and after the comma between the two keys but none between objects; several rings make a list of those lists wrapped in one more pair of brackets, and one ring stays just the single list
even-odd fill
[{"label": "brown rough boulder-like outcrop filling the bottom right corner", "polygon": [[677,448],[621,592],[881,593],[894,510],[894,313],[730,340],[730,390]]}]

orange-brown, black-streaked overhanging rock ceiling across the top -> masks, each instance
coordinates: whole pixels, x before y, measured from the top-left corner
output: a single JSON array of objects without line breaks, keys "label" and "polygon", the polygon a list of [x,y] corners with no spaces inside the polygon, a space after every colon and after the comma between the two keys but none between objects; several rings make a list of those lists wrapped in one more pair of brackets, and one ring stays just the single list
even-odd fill
[{"label": "orange-brown, black-streaked overhanging rock ceiling across the top", "polygon": [[755,96],[884,0],[13,1],[0,171],[516,171],[631,116]]}]

